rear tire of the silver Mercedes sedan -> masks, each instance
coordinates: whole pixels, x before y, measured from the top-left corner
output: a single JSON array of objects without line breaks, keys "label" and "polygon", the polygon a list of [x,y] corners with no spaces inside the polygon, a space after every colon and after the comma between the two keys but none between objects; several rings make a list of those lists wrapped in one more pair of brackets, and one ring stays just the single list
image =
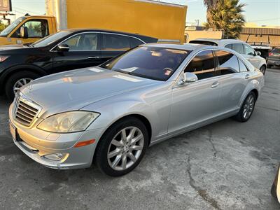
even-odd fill
[{"label": "rear tire of the silver Mercedes sedan", "polygon": [[[251,104],[251,99],[253,100]],[[256,97],[255,97],[255,93],[254,92],[250,92],[246,99],[244,100],[240,110],[239,110],[239,113],[237,113],[237,115],[235,116],[235,119],[238,120],[239,122],[241,123],[244,123],[246,121],[248,121],[248,119],[251,118],[252,114],[253,114],[253,111],[255,109],[255,101],[256,101]],[[246,115],[246,110],[247,109],[247,114]],[[249,110],[248,110],[249,109]]]}]

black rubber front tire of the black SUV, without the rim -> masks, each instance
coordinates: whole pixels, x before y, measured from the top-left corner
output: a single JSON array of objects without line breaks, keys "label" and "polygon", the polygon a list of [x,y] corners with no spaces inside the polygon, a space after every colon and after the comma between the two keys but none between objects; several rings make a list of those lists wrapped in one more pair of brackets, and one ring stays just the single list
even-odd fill
[{"label": "black rubber front tire of the black SUV, without the rim", "polygon": [[[31,71],[20,71],[17,72],[15,74],[13,74],[12,76],[10,76],[5,84],[5,92],[6,92],[6,96],[8,97],[8,99],[10,101],[13,100],[13,98],[15,97],[15,92],[14,92],[14,85],[15,83],[17,83],[19,80],[24,80],[26,81],[26,84],[30,81],[30,80],[34,80],[36,78],[39,78],[40,76],[37,73],[31,72]],[[22,83],[23,85],[25,85],[24,83]]]}]

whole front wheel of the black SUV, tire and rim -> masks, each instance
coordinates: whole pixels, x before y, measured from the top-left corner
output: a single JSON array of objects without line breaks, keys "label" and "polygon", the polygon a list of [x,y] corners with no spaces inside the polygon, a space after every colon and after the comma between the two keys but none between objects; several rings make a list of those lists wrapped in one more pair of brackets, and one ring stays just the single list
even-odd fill
[{"label": "whole front wheel of the black SUV, tire and rim", "polygon": [[31,80],[40,77],[37,73],[31,71],[20,71],[10,76],[5,85],[6,96],[13,100],[15,93],[20,90],[20,87],[28,84]]}]

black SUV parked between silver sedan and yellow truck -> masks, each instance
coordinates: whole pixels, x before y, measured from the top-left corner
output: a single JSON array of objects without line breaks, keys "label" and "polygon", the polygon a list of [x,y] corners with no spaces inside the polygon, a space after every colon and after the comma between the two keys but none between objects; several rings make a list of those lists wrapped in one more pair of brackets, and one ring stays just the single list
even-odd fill
[{"label": "black SUV parked between silver sedan and yellow truck", "polygon": [[22,85],[50,73],[97,66],[157,38],[101,29],[67,29],[33,44],[0,48],[0,92],[13,99]]}]

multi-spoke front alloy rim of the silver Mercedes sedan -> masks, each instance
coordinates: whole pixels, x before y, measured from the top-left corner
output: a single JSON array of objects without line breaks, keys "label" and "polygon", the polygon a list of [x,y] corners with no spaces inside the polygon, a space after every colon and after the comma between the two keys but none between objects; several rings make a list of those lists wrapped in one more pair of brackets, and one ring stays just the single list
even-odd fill
[{"label": "multi-spoke front alloy rim of the silver Mercedes sedan", "polygon": [[125,127],[113,137],[107,153],[112,169],[123,171],[134,165],[144,148],[144,135],[137,127]]}]

